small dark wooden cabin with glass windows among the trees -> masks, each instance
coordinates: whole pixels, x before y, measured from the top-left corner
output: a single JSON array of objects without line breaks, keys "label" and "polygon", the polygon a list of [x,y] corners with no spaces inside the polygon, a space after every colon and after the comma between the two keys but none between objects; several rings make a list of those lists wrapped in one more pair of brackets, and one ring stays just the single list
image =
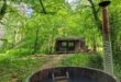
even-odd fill
[{"label": "small dark wooden cabin with glass windows among the trees", "polygon": [[57,38],[55,43],[57,54],[73,54],[86,50],[87,46],[84,38]]}]

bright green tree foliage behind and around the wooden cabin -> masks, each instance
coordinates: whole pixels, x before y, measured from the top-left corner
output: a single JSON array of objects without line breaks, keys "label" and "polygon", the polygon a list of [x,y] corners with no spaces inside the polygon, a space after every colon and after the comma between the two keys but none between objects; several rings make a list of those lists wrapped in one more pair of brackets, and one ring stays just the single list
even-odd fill
[{"label": "bright green tree foliage behind and around the wooden cabin", "polygon": [[90,48],[95,45],[94,42],[101,46],[101,35],[94,23],[91,8],[85,7],[89,5],[86,2],[82,0],[84,4],[73,12],[64,0],[43,1],[46,11],[54,12],[54,14],[43,14],[36,11],[42,10],[40,2],[31,1],[29,3],[32,3],[35,11],[32,17],[26,17],[19,14],[13,7],[16,4],[15,1],[11,1],[8,11],[14,12],[8,12],[3,19],[7,28],[4,38],[9,45],[11,44],[8,49],[29,48],[33,54],[52,54],[57,37],[85,37]]}]

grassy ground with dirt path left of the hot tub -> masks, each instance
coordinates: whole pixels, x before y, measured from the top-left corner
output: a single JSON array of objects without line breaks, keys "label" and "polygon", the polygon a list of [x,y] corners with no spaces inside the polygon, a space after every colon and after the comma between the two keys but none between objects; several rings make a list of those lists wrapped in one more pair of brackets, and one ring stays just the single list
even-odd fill
[{"label": "grassy ground with dirt path left of the hot tub", "polygon": [[64,55],[0,56],[0,82],[24,82],[36,70],[56,66]]}]

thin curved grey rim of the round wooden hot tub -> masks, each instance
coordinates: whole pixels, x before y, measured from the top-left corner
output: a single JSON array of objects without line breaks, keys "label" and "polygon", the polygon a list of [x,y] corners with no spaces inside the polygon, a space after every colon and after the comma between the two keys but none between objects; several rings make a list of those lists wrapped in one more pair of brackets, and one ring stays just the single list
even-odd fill
[{"label": "thin curved grey rim of the round wooden hot tub", "polygon": [[86,67],[54,67],[54,68],[51,67],[51,68],[40,69],[40,70],[37,70],[37,71],[31,73],[31,75],[29,75],[29,77],[26,78],[25,82],[30,82],[30,78],[32,78],[35,73],[37,73],[37,72],[40,72],[40,71],[47,70],[47,69],[56,69],[56,68],[80,68],[80,69],[86,69],[86,70],[94,70],[94,71],[101,72],[101,73],[103,73],[103,74],[106,74],[106,75],[109,75],[109,77],[111,77],[113,80],[116,80],[116,82],[119,82],[119,81],[117,80],[117,77],[114,77],[114,75],[108,74],[108,73],[106,73],[105,71],[99,70],[99,69],[86,68]]}]

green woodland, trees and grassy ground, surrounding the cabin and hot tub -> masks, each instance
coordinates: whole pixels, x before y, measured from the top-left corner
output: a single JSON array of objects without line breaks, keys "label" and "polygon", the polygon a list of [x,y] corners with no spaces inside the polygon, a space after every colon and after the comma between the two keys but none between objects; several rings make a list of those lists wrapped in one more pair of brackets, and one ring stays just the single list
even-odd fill
[{"label": "green woodland, trees and grassy ground, surrounding the cabin and hot tub", "polygon": [[[103,70],[107,48],[101,1],[0,0],[0,82],[25,82],[32,72],[52,65]],[[121,0],[110,2],[108,48],[113,77],[120,82]],[[88,50],[59,55],[57,38],[84,38]]]}]

